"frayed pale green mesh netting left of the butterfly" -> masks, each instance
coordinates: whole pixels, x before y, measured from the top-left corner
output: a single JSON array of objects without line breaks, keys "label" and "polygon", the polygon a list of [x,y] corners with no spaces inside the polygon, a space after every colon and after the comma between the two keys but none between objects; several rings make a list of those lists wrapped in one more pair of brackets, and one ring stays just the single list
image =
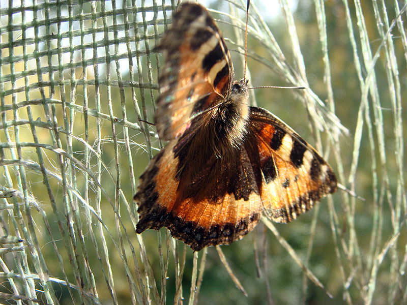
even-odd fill
[{"label": "frayed pale green mesh netting left of the butterfly", "polygon": [[[141,150],[152,155],[149,144],[137,143],[155,136],[138,122],[152,113],[158,55],[151,51],[173,8],[155,1],[0,3],[3,301],[59,303],[66,294],[98,302],[97,275],[117,301],[109,247],[133,277],[122,230],[136,223],[133,164],[146,158]],[[93,256],[102,257],[96,275]]]}]

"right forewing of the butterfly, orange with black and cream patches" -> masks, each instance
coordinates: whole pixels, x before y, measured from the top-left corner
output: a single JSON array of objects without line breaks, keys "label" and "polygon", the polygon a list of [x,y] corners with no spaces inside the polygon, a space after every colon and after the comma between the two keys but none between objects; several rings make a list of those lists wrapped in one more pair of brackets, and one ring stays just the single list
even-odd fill
[{"label": "right forewing of the butterfly, orange with black and cream patches", "polygon": [[263,177],[261,201],[271,220],[290,222],[336,191],[337,180],[329,164],[272,113],[250,107],[248,127]]}]

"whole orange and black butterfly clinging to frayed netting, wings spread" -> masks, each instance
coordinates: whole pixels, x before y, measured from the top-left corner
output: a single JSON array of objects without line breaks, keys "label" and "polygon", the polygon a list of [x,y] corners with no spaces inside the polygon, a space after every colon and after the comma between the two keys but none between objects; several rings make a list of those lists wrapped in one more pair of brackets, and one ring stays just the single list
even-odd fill
[{"label": "whole orange and black butterfly clinging to frayed netting, wings spread", "polygon": [[288,223],[336,191],[332,168],[269,111],[249,106],[208,11],[183,3],[158,50],[155,124],[168,141],[140,176],[136,232],[169,229],[192,250],[229,244],[263,211]]}]

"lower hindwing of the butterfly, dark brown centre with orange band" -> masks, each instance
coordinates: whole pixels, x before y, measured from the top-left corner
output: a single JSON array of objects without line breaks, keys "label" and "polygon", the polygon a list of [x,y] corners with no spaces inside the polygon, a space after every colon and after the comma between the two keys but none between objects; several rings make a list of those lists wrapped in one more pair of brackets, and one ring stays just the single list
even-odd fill
[{"label": "lower hindwing of the butterfly, dark brown centre with orange band", "polygon": [[251,152],[236,149],[230,158],[212,154],[202,161],[197,141],[170,141],[140,177],[134,197],[137,233],[165,226],[194,251],[242,238],[263,211]]}]

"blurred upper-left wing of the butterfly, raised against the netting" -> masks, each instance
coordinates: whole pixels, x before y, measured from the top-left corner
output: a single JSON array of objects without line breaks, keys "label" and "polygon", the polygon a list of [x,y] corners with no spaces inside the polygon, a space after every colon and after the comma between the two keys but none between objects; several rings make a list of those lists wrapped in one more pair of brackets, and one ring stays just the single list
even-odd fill
[{"label": "blurred upper-left wing of the butterfly, raised against the netting", "polygon": [[234,71],[215,21],[195,3],[181,4],[157,49],[165,66],[158,80],[155,123],[160,139],[171,140],[228,95]]}]

